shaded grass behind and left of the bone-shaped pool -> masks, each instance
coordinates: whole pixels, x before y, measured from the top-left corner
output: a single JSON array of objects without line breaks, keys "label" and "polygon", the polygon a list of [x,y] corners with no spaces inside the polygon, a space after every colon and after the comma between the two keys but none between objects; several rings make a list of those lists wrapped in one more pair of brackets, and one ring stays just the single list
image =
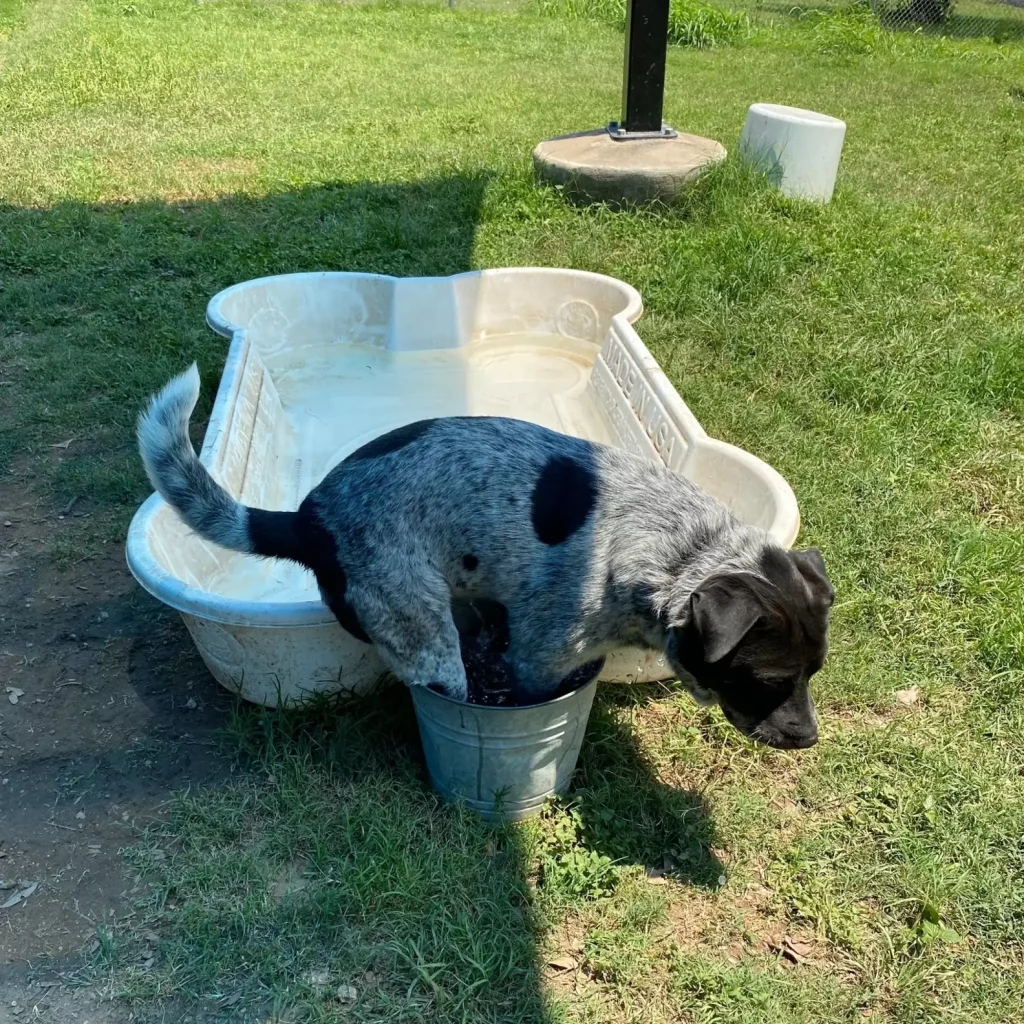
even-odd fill
[{"label": "shaded grass behind and left of the bone-shaped pool", "polygon": [[[226,342],[205,323],[216,292],[300,270],[468,270],[488,180],[0,205],[0,472],[35,453],[45,458],[33,468],[66,501],[134,505],[146,494],[133,441],[142,401],[194,358],[205,380],[219,377]],[[200,416],[214,391],[204,388]],[[70,447],[48,449],[68,437]]]}]

